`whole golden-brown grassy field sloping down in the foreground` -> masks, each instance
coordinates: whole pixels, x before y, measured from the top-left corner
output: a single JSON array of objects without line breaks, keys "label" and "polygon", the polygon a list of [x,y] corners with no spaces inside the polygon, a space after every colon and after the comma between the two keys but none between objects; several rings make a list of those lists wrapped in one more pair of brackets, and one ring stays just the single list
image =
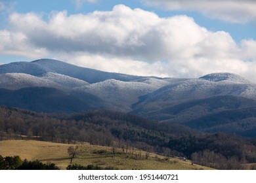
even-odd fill
[{"label": "whole golden-brown grassy field sloping down in the foreground", "polygon": [[[71,144],[60,144],[53,142],[12,140],[0,141],[1,156],[18,155],[22,159],[38,159],[43,163],[55,163],[60,169],[66,169],[70,165],[68,147]],[[123,152],[121,148],[116,148],[116,153],[112,153],[112,147],[93,146],[90,144],[79,145],[79,156],[72,164],[98,165],[100,167],[114,167],[117,169],[209,169],[200,165],[192,165],[190,161],[182,161],[177,158],[166,158],[156,154],[149,154],[146,159],[146,152],[139,150],[128,150]],[[125,150],[126,151],[126,150]]]}]

